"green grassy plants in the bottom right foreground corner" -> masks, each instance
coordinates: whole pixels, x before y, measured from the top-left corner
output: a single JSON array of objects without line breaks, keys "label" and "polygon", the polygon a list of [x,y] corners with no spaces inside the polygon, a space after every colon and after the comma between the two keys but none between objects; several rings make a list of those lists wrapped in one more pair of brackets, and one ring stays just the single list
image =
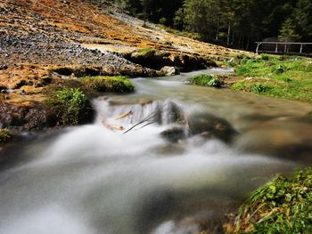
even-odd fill
[{"label": "green grassy plants in the bottom right foreground corner", "polygon": [[312,168],[279,175],[240,208],[236,233],[312,233]]}]

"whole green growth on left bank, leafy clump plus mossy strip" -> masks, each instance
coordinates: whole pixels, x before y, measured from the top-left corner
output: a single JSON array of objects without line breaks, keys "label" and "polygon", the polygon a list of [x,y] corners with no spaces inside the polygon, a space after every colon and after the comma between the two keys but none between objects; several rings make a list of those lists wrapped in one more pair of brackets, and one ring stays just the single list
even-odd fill
[{"label": "whole green growth on left bank, leafy clump plus mossy strip", "polygon": [[134,91],[127,77],[82,77],[65,80],[62,85],[49,85],[45,105],[52,110],[59,125],[78,125],[92,120],[90,99],[102,92]]}]

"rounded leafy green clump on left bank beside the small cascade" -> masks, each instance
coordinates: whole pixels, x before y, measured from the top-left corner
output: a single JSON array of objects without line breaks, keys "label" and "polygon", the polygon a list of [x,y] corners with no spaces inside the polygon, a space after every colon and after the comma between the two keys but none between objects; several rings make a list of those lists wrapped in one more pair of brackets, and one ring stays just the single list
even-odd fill
[{"label": "rounded leafy green clump on left bank beside the small cascade", "polygon": [[86,94],[79,88],[64,88],[50,93],[45,104],[53,110],[59,125],[85,123],[93,112]]}]

